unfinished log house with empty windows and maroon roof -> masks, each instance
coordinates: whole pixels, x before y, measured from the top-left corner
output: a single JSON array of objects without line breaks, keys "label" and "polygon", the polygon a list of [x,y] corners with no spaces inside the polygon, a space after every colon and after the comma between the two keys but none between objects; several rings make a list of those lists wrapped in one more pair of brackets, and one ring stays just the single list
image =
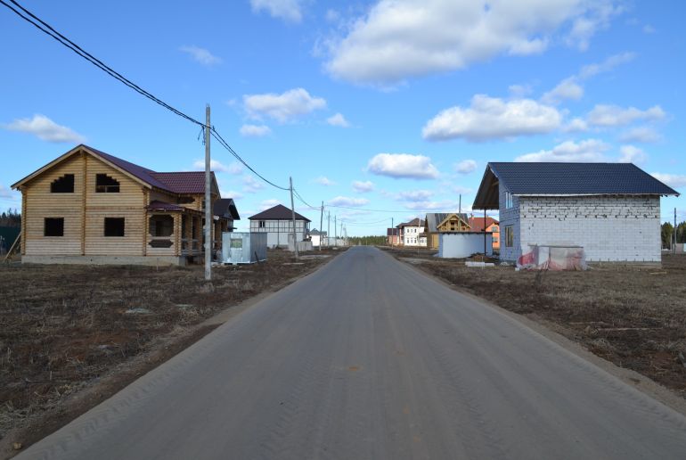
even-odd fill
[{"label": "unfinished log house with empty windows and maroon roof", "polygon": [[[156,172],[82,144],[12,188],[23,262],[185,265],[204,254],[204,172]],[[214,174],[210,194],[220,199]],[[229,214],[214,218],[215,251]]]}]

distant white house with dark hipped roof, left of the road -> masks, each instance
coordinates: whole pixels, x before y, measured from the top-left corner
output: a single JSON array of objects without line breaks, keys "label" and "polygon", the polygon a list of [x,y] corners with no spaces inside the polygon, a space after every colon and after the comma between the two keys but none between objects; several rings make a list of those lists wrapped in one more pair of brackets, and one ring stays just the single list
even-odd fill
[{"label": "distant white house with dark hipped roof, left of the road", "polygon": [[[310,219],[296,214],[296,239],[304,241],[309,234]],[[249,218],[250,232],[266,233],[269,248],[288,248],[290,234],[293,233],[292,211],[282,204],[266,209]]]}]

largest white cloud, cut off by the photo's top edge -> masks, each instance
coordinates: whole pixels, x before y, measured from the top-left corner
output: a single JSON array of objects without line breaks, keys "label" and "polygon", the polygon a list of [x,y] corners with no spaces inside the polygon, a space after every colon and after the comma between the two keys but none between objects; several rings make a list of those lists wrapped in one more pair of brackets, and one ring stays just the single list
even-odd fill
[{"label": "largest white cloud, cut off by the photo's top edge", "polygon": [[542,53],[569,29],[568,43],[584,48],[617,12],[613,2],[380,0],[346,37],[330,40],[325,69],[355,83],[393,86],[498,54]]}]

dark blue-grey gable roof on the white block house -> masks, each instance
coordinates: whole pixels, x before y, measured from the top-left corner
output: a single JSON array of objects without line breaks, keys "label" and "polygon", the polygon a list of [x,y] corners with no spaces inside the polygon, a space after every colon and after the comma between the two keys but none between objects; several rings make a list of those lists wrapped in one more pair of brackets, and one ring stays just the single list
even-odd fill
[{"label": "dark blue-grey gable roof on the white block house", "polygon": [[633,163],[490,162],[474,209],[498,209],[498,184],[513,195],[679,195]]}]

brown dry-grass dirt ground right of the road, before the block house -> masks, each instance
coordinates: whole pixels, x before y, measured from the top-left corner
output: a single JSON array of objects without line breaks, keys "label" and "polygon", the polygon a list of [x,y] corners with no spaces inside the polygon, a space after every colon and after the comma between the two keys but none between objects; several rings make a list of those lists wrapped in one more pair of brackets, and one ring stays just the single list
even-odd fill
[{"label": "brown dry-grass dirt ground right of the road, before the block house", "polygon": [[435,251],[387,251],[686,398],[686,256],[663,256],[662,267],[517,272],[465,267],[464,260],[433,257]]}]

